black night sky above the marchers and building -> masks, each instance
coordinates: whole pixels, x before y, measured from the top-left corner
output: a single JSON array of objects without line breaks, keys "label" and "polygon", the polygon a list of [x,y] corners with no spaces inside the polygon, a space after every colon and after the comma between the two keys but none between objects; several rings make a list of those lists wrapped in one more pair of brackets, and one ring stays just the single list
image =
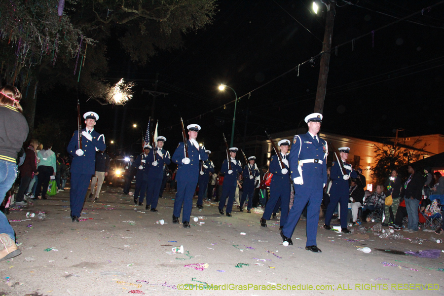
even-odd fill
[{"label": "black night sky above the marchers and building", "polygon": [[[394,137],[396,128],[405,129],[401,137],[443,134],[444,3],[376,31],[373,37],[359,38],[439,1],[352,2],[362,7],[337,1],[342,7],[336,7],[332,47],[357,39],[331,54],[321,132],[372,140]],[[223,108],[234,100],[234,92],[220,92],[218,85],[227,84],[240,97],[316,56],[322,49],[325,14],[314,15],[311,4],[308,0],[220,1],[212,25],[188,34],[182,49],[160,52],[145,67],[131,63],[113,36],[108,43],[109,80],[135,81],[134,98],[125,106],[102,106],[80,97],[81,111],[99,113],[96,129],[107,142],[114,140],[122,154],[137,152],[152,104],[152,97],[142,94],[142,89],[154,90],[158,73],[157,91],[169,93],[157,97],[154,112],[160,134],[168,139],[165,147],[173,152],[180,141],[182,116],[185,126],[200,124],[199,142],[217,150],[222,132],[230,139],[234,112],[233,103]],[[264,139],[264,128],[271,134],[296,129],[313,112],[319,61],[318,57],[301,65],[299,76],[297,70],[291,71],[244,96],[237,103],[236,139],[242,141],[244,134],[247,139]],[[75,103],[72,91],[56,88],[39,95],[36,126],[47,110],[57,110],[50,116],[67,120],[74,131]],[[133,128],[133,123],[141,129]]]}]

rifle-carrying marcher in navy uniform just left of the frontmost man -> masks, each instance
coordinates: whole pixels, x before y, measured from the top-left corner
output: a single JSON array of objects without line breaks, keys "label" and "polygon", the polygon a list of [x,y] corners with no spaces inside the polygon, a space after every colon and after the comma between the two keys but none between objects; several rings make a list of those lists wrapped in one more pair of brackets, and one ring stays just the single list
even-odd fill
[{"label": "rifle-carrying marcher in navy uniform just left of the frontmost man", "polygon": [[270,199],[267,201],[267,205],[265,206],[265,211],[263,212],[262,218],[260,219],[260,226],[266,227],[267,220],[270,220],[271,215],[275,212],[275,207],[280,201],[281,205],[281,222],[279,226],[279,230],[284,228],[285,222],[287,222],[288,210],[290,207],[290,190],[291,190],[291,181],[287,160],[287,152],[290,148],[289,140],[281,140],[278,143],[282,162],[284,163],[284,167],[282,167],[279,162],[279,157],[274,155],[271,158],[270,162],[270,173],[273,174],[271,177],[270,184]]}]

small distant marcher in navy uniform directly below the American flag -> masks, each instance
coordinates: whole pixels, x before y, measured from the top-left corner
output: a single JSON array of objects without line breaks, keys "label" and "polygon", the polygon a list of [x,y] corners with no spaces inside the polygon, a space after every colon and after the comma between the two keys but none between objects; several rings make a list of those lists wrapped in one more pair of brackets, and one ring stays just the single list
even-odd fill
[{"label": "small distant marcher in navy uniform directly below the American flag", "polygon": [[152,157],[149,158],[150,149],[152,149],[151,145],[145,143],[144,153],[138,155],[136,161],[134,161],[134,166],[137,168],[134,204],[139,206],[143,204],[145,193],[147,192],[149,161],[153,159]]}]

